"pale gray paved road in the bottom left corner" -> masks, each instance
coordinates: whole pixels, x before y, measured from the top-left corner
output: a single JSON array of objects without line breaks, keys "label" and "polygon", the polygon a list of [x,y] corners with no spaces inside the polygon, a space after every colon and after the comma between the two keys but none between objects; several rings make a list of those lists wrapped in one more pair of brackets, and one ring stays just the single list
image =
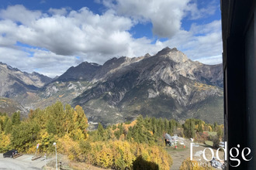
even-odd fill
[{"label": "pale gray paved road in the bottom left corner", "polygon": [[[31,161],[33,155],[22,155],[18,158],[3,158],[0,154],[0,170],[15,169],[15,170],[39,170],[45,164],[44,157]],[[48,161],[47,161],[48,162]]]}]

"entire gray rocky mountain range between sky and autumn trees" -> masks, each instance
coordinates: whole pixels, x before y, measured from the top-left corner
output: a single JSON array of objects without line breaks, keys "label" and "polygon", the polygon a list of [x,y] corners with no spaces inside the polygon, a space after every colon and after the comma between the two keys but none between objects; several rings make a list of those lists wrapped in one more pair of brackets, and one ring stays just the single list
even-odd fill
[{"label": "entire gray rocky mountain range between sky and autumn trees", "polygon": [[89,121],[105,125],[139,114],[223,124],[222,64],[192,61],[176,48],[115,57],[103,65],[83,62],[55,79],[0,63],[0,78],[0,96],[19,104],[24,115],[61,100],[81,105]]}]

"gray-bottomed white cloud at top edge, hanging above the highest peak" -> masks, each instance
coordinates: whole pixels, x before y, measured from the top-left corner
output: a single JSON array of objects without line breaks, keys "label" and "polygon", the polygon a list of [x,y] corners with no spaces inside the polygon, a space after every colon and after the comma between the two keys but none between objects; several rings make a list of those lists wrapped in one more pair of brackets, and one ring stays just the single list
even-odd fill
[{"label": "gray-bottomed white cloud at top edge, hanging above the highest peak", "polygon": [[189,0],[103,0],[102,3],[119,15],[138,22],[152,22],[154,35],[171,38],[181,28]]}]

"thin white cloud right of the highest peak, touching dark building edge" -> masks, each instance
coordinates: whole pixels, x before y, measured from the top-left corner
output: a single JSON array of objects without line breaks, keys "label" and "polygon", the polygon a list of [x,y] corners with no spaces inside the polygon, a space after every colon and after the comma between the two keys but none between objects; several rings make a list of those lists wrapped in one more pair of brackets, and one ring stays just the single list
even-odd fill
[{"label": "thin white cloud right of the highest peak, touching dark building edge", "polygon": [[218,56],[222,53],[221,22],[216,20],[201,26],[192,24],[190,31],[181,30],[163,43],[164,46],[177,47],[192,60]]}]

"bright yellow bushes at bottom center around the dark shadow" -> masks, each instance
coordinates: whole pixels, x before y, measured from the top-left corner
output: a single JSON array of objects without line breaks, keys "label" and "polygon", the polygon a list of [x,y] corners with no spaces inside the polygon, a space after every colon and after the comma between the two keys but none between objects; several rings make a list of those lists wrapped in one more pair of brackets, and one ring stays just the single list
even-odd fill
[{"label": "bright yellow bushes at bottom center around the dark shadow", "polygon": [[132,168],[133,162],[142,157],[144,161],[153,162],[160,169],[170,169],[171,156],[163,148],[128,141],[107,141],[91,143],[92,151],[88,161],[104,168]]}]

